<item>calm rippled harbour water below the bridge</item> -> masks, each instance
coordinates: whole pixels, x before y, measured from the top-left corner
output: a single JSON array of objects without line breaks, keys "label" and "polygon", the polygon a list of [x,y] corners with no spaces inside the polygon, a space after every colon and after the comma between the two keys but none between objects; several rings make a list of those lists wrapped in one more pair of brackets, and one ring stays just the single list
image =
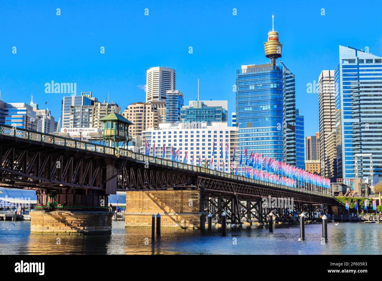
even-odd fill
[{"label": "calm rippled harbour water below the bridge", "polygon": [[0,254],[382,254],[376,247],[382,224],[376,223],[329,223],[324,245],[321,224],[305,225],[305,241],[298,241],[298,224],[274,226],[273,233],[228,225],[226,237],[213,225],[210,232],[163,228],[154,244],[151,229],[125,228],[123,221],[113,221],[111,236],[32,235],[29,229],[29,221],[0,221]]}]

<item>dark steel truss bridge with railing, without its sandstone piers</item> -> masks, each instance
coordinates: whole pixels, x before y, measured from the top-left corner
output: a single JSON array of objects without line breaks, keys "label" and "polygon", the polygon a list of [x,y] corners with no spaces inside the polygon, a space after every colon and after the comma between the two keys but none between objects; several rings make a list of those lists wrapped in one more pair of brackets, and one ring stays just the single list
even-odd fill
[{"label": "dark steel truss bridge with railing, without its sandstone piers", "polygon": [[[264,221],[270,211],[285,220],[285,208],[261,206],[261,198],[293,198],[298,213],[337,205],[330,190],[315,192],[183,164],[131,150],[0,126],[0,184],[37,190],[39,208],[96,209],[117,191],[199,189],[201,211],[221,219]],[[105,205],[107,206],[107,204]],[[107,207],[103,208],[107,208]],[[245,212],[241,210],[245,207]],[[204,210],[202,210],[204,209]]]}]

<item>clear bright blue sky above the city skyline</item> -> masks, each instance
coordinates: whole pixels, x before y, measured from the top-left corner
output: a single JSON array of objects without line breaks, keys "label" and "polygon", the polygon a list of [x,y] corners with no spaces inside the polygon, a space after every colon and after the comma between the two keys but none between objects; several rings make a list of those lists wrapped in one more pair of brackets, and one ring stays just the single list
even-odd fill
[{"label": "clear bright blue sky above the city skyline", "polygon": [[[270,4],[274,3],[274,7]],[[382,55],[380,1],[2,1],[0,3],[0,90],[6,102],[45,101],[58,120],[62,94],[45,94],[45,83],[77,83],[121,108],[145,101],[138,85],[146,70],[176,70],[185,103],[227,99],[235,110],[236,70],[261,64],[272,28],[283,43],[282,60],[296,75],[296,107],[305,136],[319,130],[318,94],[306,84],[338,65],[338,45]],[[61,15],[56,15],[56,9]],[[144,15],[144,9],[149,15]],[[237,9],[237,16],[232,9]],[[321,9],[325,9],[322,16]],[[12,54],[16,46],[17,53]],[[100,47],[105,54],[100,54]],[[188,53],[189,46],[193,54]]]}]

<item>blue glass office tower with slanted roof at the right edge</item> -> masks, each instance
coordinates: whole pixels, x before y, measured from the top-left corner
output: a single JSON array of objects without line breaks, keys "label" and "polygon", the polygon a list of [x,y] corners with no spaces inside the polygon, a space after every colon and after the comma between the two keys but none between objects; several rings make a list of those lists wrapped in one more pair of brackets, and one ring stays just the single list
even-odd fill
[{"label": "blue glass office tower with slanted roof at the right edge", "polygon": [[[382,58],[340,46],[334,76],[340,174],[345,179],[382,174]],[[372,155],[373,175],[366,155],[358,155],[355,171],[356,154]]]}]

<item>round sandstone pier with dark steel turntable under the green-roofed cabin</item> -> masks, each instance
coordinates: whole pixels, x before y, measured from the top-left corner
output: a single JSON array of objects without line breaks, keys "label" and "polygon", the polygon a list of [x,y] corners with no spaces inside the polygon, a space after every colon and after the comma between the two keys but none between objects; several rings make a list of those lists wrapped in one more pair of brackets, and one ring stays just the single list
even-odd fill
[{"label": "round sandstone pier with dark steel turntable under the green-roofed cabin", "polygon": [[112,233],[113,213],[103,190],[37,190],[31,234],[100,235]]}]

